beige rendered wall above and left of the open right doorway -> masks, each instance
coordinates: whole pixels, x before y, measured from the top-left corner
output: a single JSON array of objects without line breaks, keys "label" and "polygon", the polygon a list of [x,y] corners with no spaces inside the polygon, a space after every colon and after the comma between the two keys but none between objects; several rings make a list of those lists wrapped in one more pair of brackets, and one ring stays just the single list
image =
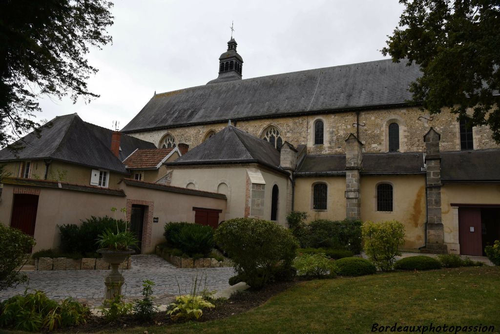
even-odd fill
[{"label": "beige rendered wall above and left of the open right doorway", "polygon": [[451,206],[451,203],[500,204],[500,184],[444,184],[441,187],[444,243],[449,252],[458,254],[458,206]]}]

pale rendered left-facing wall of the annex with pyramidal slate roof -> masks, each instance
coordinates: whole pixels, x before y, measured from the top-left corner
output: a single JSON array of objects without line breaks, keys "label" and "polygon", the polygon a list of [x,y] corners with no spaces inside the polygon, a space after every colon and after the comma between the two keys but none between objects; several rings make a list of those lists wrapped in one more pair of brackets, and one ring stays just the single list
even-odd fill
[{"label": "pale rendered left-facing wall of the annex with pyramidal slate roof", "polygon": [[246,168],[244,167],[189,167],[172,170],[170,185],[186,187],[193,183],[197,190],[217,192],[220,183],[227,184],[225,219],[244,216]]}]

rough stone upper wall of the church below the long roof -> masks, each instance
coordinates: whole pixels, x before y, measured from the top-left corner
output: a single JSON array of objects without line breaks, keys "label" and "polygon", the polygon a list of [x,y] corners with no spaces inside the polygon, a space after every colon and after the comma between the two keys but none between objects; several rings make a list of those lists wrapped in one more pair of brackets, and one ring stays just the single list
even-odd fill
[{"label": "rough stone upper wall of the church below the long roof", "polygon": [[[324,122],[324,144],[313,145],[313,123],[321,119]],[[388,124],[396,122],[400,130],[400,151],[425,151],[423,135],[429,127],[433,127],[441,134],[441,151],[460,149],[459,128],[456,115],[443,110],[438,115],[430,116],[416,107],[401,107],[376,109],[359,112],[359,140],[363,143],[363,152],[386,152]],[[329,114],[279,117],[233,122],[236,127],[252,135],[260,136],[269,125],[276,126],[283,137],[283,141],[293,146],[307,142],[308,153],[332,154],[343,153],[344,140],[349,133],[356,134],[356,113],[339,112]],[[175,138],[176,143],[186,143],[190,148],[200,144],[210,130],[220,131],[227,122],[206,125],[194,125],[163,130],[153,130],[130,133],[135,137],[153,142],[158,145],[167,134]],[[474,148],[500,148],[491,139],[491,131],[486,126],[473,127]]]}]

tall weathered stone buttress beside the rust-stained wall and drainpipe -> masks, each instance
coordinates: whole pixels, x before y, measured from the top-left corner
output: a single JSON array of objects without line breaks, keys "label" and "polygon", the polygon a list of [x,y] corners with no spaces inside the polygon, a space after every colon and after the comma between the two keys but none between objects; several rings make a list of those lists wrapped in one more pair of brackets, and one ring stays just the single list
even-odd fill
[{"label": "tall weathered stone buttress beside the rust-stained wall and drainpipe", "polygon": [[425,142],[425,184],[427,190],[427,242],[426,251],[447,252],[444,244],[444,229],[441,221],[441,135],[432,127],[423,136]]}]

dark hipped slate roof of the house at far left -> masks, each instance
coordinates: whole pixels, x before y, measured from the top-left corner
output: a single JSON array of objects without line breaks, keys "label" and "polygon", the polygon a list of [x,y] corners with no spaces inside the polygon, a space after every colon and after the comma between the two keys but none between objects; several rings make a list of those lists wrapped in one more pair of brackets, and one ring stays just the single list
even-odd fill
[{"label": "dark hipped slate roof of the house at far left", "polygon": [[83,121],[76,113],[57,116],[35,132],[16,141],[25,146],[15,154],[0,150],[0,161],[52,158],[72,163],[127,173],[123,159],[136,148],[153,148],[153,143],[121,135],[120,158],[110,150],[112,131]]}]

